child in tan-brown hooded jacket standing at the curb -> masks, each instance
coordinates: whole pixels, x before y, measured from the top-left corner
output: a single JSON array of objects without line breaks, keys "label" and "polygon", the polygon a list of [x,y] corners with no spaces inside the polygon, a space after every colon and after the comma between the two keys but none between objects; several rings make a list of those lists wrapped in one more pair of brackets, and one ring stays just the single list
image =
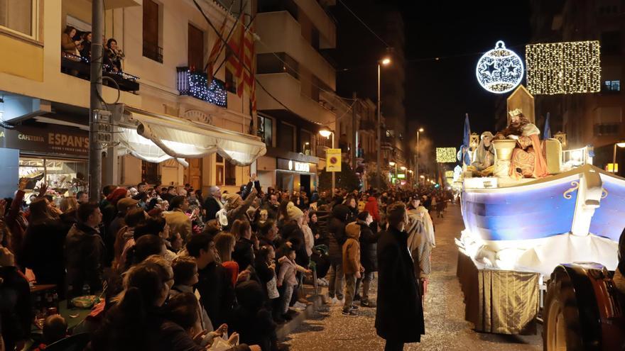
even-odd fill
[{"label": "child in tan-brown hooded jacket standing at the curb", "polygon": [[345,274],[345,303],[343,304],[343,316],[357,316],[354,306],[354,292],[356,291],[356,279],[361,278],[364,267],[360,264],[360,225],[351,222],[345,226],[347,240],[343,244],[343,273]]}]

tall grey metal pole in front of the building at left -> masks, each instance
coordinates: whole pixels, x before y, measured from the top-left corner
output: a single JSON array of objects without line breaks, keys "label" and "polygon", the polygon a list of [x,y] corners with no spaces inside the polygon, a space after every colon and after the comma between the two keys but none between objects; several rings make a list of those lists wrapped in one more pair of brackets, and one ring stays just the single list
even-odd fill
[{"label": "tall grey metal pole in front of the building at left", "polygon": [[91,90],[89,101],[89,199],[100,200],[102,189],[102,148],[97,141],[96,110],[102,109],[102,30],[104,27],[104,0],[93,0],[92,16],[92,57]]}]

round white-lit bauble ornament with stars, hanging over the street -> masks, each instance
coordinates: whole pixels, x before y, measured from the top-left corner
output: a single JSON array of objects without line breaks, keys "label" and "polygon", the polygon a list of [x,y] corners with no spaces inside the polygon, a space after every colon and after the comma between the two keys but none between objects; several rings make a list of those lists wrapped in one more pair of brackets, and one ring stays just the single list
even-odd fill
[{"label": "round white-lit bauble ornament with stars, hanging over the street", "polygon": [[495,48],[480,57],[475,67],[477,82],[495,94],[504,94],[516,88],[523,79],[523,61],[499,40]]}]

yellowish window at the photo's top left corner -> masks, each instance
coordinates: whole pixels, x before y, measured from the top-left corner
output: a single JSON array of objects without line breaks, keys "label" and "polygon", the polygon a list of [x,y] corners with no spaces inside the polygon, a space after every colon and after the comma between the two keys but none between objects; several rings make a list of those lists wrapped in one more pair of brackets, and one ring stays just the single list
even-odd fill
[{"label": "yellowish window at the photo's top left corner", "polygon": [[38,0],[0,0],[0,26],[34,38]]}]

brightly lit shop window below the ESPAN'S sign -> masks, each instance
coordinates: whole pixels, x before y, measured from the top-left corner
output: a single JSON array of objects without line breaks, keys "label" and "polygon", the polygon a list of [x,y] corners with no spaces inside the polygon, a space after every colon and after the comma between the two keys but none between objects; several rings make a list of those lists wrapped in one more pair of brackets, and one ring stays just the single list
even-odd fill
[{"label": "brightly lit shop window below the ESPAN'S sign", "polygon": [[55,160],[38,157],[20,157],[18,174],[28,178],[26,200],[37,194],[41,184],[48,184],[48,193],[55,197],[87,191],[87,160]]}]

